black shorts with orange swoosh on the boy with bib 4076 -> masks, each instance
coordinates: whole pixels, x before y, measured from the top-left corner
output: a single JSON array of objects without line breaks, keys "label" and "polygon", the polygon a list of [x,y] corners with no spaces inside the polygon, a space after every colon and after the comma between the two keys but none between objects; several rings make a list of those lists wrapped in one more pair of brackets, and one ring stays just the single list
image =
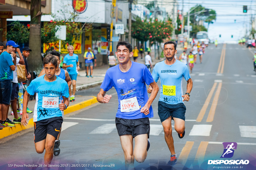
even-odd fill
[{"label": "black shorts with orange swoosh on the boy with bib 4076", "polygon": [[47,134],[50,134],[57,139],[62,122],[63,119],[61,116],[34,122],[34,142],[36,143],[46,139]]}]

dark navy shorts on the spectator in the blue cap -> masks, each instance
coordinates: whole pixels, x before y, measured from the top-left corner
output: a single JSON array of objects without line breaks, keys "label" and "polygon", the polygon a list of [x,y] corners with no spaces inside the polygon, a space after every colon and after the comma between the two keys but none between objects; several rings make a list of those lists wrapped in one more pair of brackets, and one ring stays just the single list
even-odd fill
[{"label": "dark navy shorts on the spectator in the blue cap", "polygon": [[13,80],[0,81],[0,89],[0,103],[9,105],[13,89]]}]

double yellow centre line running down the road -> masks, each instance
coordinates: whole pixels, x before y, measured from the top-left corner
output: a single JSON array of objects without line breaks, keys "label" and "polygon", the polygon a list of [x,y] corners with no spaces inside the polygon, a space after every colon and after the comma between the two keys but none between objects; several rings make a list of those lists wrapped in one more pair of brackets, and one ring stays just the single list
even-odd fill
[{"label": "double yellow centre line running down the road", "polygon": [[[219,67],[218,67],[218,71],[217,73],[223,73],[223,70],[224,70],[224,64],[225,64],[225,55],[226,55],[226,44],[223,44],[223,47],[222,47],[222,51],[221,51],[221,56],[220,56],[220,62],[219,62]],[[200,110],[198,116],[197,116],[197,119],[196,121],[197,122],[201,122],[204,115],[205,115],[205,112],[208,108],[208,105],[210,103],[210,100],[212,98],[212,95],[215,91],[215,88],[217,87],[217,90],[214,94],[214,99],[212,101],[212,105],[211,105],[211,108],[210,108],[210,111],[209,111],[209,114],[208,114],[208,117],[207,117],[207,120],[206,122],[212,122],[213,119],[214,119],[214,115],[215,115],[215,111],[216,111],[216,107],[217,107],[217,104],[218,104],[218,99],[219,99],[219,96],[220,96],[220,90],[221,90],[221,86],[222,86],[222,83],[217,83],[215,82],[209,92],[209,95],[207,96],[206,100],[205,100],[205,103],[202,107],[202,109]],[[186,161],[187,161],[187,158],[188,158],[188,155],[192,149],[194,145],[194,141],[187,141],[185,146],[183,147],[180,155],[179,155],[179,160],[182,164],[185,164]],[[207,149],[207,146],[208,146],[208,142],[207,141],[201,141],[198,149],[197,149],[197,152],[196,152],[196,156],[195,156],[195,161],[196,160],[204,160],[204,156],[205,156],[205,152],[206,152],[206,149]]]}]

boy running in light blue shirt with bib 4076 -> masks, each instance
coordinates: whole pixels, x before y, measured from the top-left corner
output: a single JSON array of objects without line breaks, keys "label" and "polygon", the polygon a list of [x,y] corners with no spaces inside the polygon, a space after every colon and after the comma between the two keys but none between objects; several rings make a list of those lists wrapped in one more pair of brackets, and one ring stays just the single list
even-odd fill
[{"label": "boy running in light blue shirt with bib 4076", "polygon": [[[61,111],[69,105],[69,88],[65,80],[55,75],[58,70],[55,56],[47,55],[44,59],[45,75],[32,80],[27,87],[23,99],[22,125],[27,125],[27,104],[29,96],[36,93],[36,104],[33,116],[34,142],[37,153],[45,150],[44,163],[51,164],[53,158],[54,142],[60,132],[63,122]],[[61,97],[63,100],[61,100]]]}]

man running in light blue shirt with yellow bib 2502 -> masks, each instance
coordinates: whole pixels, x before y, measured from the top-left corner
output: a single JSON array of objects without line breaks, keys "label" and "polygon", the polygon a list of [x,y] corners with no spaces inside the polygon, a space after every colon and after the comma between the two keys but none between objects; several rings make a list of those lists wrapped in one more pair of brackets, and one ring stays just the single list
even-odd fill
[{"label": "man running in light blue shirt with yellow bib 2502", "polygon": [[[168,164],[174,165],[177,161],[172,137],[172,120],[174,128],[179,138],[185,135],[185,112],[184,101],[189,101],[190,91],[193,82],[189,75],[186,64],[174,58],[177,53],[177,44],[173,41],[164,43],[164,55],[166,60],[156,63],[152,77],[155,82],[160,78],[161,92],[158,101],[158,115],[164,127],[164,135],[167,146],[171,152],[171,158]],[[187,81],[187,90],[183,95],[182,80]],[[152,87],[148,88],[151,93]]]}]

